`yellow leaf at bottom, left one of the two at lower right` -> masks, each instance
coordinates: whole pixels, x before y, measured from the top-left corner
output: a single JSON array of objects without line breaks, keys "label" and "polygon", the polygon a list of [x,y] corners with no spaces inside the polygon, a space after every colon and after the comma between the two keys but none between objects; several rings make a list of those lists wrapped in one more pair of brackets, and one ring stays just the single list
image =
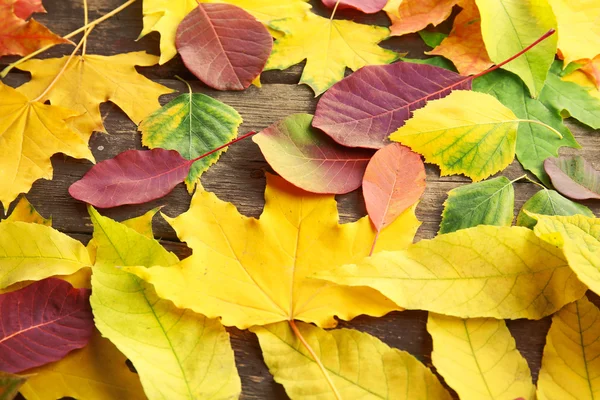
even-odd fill
[{"label": "yellow leaf at bottom, left one of the two at lower right", "polygon": [[502,320],[429,314],[431,360],[461,400],[535,400],[529,365]]}]

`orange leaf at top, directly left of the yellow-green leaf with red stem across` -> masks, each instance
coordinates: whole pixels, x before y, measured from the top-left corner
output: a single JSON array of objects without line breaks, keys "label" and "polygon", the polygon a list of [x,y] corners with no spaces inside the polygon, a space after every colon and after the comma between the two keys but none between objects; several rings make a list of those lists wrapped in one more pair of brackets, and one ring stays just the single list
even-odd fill
[{"label": "orange leaf at top, directly left of the yellow-green leaf with red stem across", "polygon": [[426,52],[451,60],[461,75],[473,75],[493,65],[481,33],[481,17],[475,0],[459,0],[462,11],[454,19],[452,31],[435,49]]}]

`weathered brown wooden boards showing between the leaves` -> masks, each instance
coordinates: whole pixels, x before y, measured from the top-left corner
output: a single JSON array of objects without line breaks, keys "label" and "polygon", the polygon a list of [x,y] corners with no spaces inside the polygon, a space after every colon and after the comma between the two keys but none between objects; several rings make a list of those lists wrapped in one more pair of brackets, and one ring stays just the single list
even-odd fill
[{"label": "weathered brown wooden boards showing between the leaves", "polygon": [[[179,0],[172,0],[179,1]],[[88,0],[90,6],[90,21],[94,20],[122,4],[123,0]],[[317,13],[329,16],[330,11],[320,6],[320,1],[312,1]],[[58,34],[65,35],[83,25],[83,4],[80,0],[45,0],[44,5],[48,14],[38,14],[36,19],[46,24]],[[387,26],[388,19],[384,13],[365,16],[353,12],[338,12],[341,18],[353,19],[357,22],[372,23]],[[449,30],[449,23],[441,29]],[[141,0],[121,12],[117,16],[103,22],[90,35],[87,44],[88,54],[112,55],[129,51],[146,50],[158,54],[159,36],[152,33],[135,41],[142,29]],[[77,39],[77,38],[76,38]],[[77,40],[75,40],[77,41]],[[384,47],[408,52],[408,57],[421,58],[427,50],[418,35],[407,35],[393,38],[382,43]],[[43,55],[56,57],[70,54],[71,46],[57,46]],[[15,57],[0,59],[3,67]],[[234,107],[244,118],[240,133],[250,130],[261,130],[270,124],[292,113],[314,113],[317,99],[307,86],[299,86],[302,65],[294,66],[286,71],[268,71],[262,75],[261,89],[250,87],[244,92],[217,92],[208,89],[198,82],[176,57],[163,66],[138,68],[145,76],[178,91],[186,91],[184,84],[174,78],[179,75],[192,84],[194,91],[208,94]],[[13,70],[4,80],[11,86],[18,86],[29,79],[29,74]],[[160,101],[165,104],[178,93],[163,96]],[[101,107],[104,123],[108,134],[94,134],[90,147],[97,161],[116,156],[128,149],[140,149],[140,134],[128,117],[111,103]],[[583,146],[579,154],[592,162],[600,161],[599,132],[577,123],[568,121],[575,137]],[[570,151],[573,153],[574,151]],[[563,152],[567,154],[568,152]],[[52,159],[54,180],[40,180],[33,185],[27,198],[48,217],[52,216],[54,227],[85,243],[91,238],[92,225],[86,211],[86,206],[72,199],[67,189],[91,167],[87,161],[74,160],[63,155]],[[232,202],[241,213],[258,217],[262,211],[265,188],[265,171],[270,168],[265,162],[258,146],[251,140],[245,140],[233,145],[219,162],[202,177],[202,183],[207,190],[215,192],[219,198]],[[524,173],[520,164],[514,161],[502,172],[503,175],[514,179]],[[427,190],[417,208],[417,216],[423,222],[415,240],[432,238],[438,230],[442,204],[447,192],[455,187],[468,183],[463,176],[440,178],[436,166],[427,165]],[[515,214],[521,205],[539,188],[527,182],[515,183],[516,202]],[[363,197],[360,190],[347,195],[338,196],[339,210],[342,222],[353,221],[365,215]],[[170,215],[178,215],[187,210],[190,196],[184,185],[179,185],[171,194],[157,201],[140,206],[124,206],[102,211],[106,216],[124,220],[156,206],[165,206],[163,211]],[[597,202],[585,203],[598,214],[600,206]],[[154,222],[156,237],[169,250],[174,251],[180,258],[190,254],[190,250],[179,243],[175,232],[160,217]],[[592,301],[600,304],[595,295]],[[390,346],[406,350],[431,366],[431,338],[425,326],[427,313],[424,311],[405,311],[389,314],[383,318],[359,317],[351,322],[341,322],[341,327],[352,327],[377,336]],[[540,367],[545,336],[550,326],[550,319],[540,321],[515,320],[508,321],[508,326],[515,337],[517,347],[529,362],[534,379]],[[258,341],[253,334],[237,329],[228,329],[235,350],[239,373],[242,377],[244,399],[286,399],[283,387],[273,381],[269,371],[262,361]]]}]

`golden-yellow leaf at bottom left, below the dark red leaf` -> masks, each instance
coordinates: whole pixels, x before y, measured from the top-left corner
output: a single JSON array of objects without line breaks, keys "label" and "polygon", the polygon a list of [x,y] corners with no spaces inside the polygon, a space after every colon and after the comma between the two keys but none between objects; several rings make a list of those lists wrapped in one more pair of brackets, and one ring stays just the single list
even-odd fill
[{"label": "golden-yellow leaf at bottom left, below the dark red leaf", "polygon": [[27,400],[146,399],[140,379],[125,363],[127,358],[108,340],[95,332],[83,349],[64,359],[30,369],[32,376],[21,388]]}]

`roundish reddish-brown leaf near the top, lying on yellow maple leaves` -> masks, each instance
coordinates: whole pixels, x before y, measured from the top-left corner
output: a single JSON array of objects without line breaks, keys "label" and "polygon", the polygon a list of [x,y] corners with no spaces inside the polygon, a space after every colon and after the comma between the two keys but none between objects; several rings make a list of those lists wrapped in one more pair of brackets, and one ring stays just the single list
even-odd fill
[{"label": "roundish reddish-brown leaf near the top, lying on yellow maple leaves", "polygon": [[252,15],[231,4],[199,4],[177,28],[185,66],[208,86],[243,90],[262,72],[273,39]]}]

